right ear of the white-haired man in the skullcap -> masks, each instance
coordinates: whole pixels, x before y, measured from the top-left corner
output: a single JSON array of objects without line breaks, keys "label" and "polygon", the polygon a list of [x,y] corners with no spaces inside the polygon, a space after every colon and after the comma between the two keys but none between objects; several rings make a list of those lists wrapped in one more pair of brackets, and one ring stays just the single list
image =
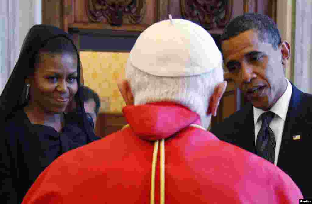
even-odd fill
[{"label": "right ear of the white-haired man in the skullcap", "polygon": [[221,100],[222,95],[224,94],[226,88],[227,88],[227,81],[223,81],[216,86],[213,94],[210,97],[207,115],[208,114],[212,114],[213,116],[217,115],[217,109],[218,109],[220,100]]}]

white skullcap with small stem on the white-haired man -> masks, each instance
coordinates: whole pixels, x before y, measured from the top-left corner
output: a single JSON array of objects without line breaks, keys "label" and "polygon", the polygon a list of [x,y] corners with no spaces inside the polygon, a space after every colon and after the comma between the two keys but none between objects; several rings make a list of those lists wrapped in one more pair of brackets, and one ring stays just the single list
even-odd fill
[{"label": "white skullcap with small stem on the white-haired man", "polygon": [[151,75],[182,77],[222,67],[222,55],[212,36],[183,19],[157,22],[140,34],[130,51],[132,66]]}]

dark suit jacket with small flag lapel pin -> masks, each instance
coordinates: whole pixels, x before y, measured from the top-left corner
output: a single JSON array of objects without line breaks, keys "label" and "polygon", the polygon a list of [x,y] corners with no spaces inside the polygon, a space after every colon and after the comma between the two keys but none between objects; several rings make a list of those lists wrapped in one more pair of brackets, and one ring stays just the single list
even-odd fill
[{"label": "dark suit jacket with small flag lapel pin", "polygon": [[[291,85],[293,90],[277,166],[295,181],[305,198],[312,198],[312,171],[308,167],[311,163],[312,95]],[[211,132],[223,141],[256,153],[252,104],[247,104],[221,124],[212,127]],[[294,140],[295,135],[300,135],[300,139]]]}]

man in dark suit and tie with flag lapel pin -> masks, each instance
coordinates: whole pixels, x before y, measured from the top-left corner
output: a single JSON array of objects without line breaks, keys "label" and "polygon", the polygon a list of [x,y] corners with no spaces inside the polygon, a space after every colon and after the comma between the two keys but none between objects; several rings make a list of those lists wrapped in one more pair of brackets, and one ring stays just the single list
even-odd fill
[{"label": "man in dark suit and tie with flag lapel pin", "polygon": [[295,181],[304,197],[312,197],[312,95],[285,78],[290,45],[281,41],[272,19],[254,13],[233,19],[221,42],[224,65],[250,103],[211,132],[271,161]]}]

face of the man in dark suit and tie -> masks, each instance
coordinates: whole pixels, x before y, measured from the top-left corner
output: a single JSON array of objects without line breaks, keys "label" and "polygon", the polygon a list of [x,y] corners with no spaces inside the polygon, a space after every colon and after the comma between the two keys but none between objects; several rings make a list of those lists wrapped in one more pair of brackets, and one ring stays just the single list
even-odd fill
[{"label": "face of the man in dark suit and tie", "polygon": [[222,42],[225,67],[246,99],[256,108],[270,109],[287,87],[281,46],[261,42],[255,30]]}]

